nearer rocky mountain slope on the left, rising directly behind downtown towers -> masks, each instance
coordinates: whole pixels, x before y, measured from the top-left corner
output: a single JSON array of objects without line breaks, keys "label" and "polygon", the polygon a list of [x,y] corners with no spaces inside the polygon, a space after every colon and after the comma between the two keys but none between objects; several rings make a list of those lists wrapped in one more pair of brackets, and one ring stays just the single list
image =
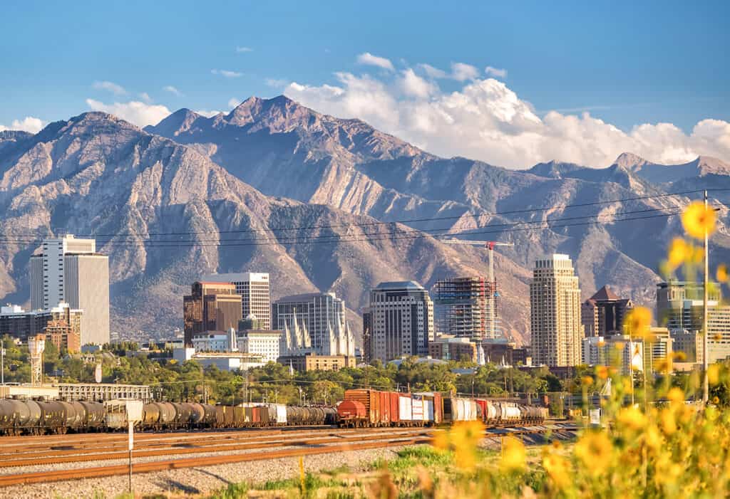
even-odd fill
[{"label": "nearer rocky mountain slope on the left, rising directly behind downtown towers", "polygon": [[[336,291],[358,310],[382,280],[430,286],[485,268],[478,248],[457,251],[409,238],[399,224],[263,195],[196,149],[108,114],[49,125],[0,154],[0,173],[5,301],[28,299],[28,257],[40,238],[59,229],[97,235],[110,255],[112,329],[124,336],[181,326],[182,296],[208,272],[271,272],[274,298]],[[505,299],[505,322],[521,340],[528,275],[507,259],[497,268],[514,297]]]}]

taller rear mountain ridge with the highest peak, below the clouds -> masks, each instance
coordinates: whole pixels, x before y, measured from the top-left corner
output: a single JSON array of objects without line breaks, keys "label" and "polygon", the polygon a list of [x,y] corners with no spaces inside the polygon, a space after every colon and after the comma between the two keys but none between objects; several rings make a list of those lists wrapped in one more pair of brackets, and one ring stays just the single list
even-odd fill
[{"label": "taller rear mountain ridge with the highest peak, below the clouds", "polygon": [[[680,226],[676,216],[652,215],[676,213],[688,203],[688,197],[648,197],[671,192],[671,184],[648,178],[648,162],[630,154],[608,168],[551,162],[507,170],[435,157],[363,122],[319,114],[283,96],[250,98],[213,118],[181,110],[147,130],[210,155],[266,195],[410,221],[434,234],[512,241],[515,248],[504,255],[525,269],[544,254],[568,253],[585,297],[610,284],[639,302],[653,300],[659,280],[653,269]],[[621,199],[632,201],[594,204]],[[716,244],[722,251],[730,247],[725,240]]]}]

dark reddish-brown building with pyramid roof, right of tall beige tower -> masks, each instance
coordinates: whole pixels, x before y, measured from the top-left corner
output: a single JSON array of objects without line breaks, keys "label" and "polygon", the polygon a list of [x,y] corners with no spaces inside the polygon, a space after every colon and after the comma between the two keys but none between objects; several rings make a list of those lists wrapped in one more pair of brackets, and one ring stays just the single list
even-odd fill
[{"label": "dark reddish-brown building with pyramid roof, right of tall beige tower", "polygon": [[585,328],[585,336],[623,334],[623,320],[633,307],[630,299],[622,299],[608,286],[603,286],[580,305],[580,321]]}]

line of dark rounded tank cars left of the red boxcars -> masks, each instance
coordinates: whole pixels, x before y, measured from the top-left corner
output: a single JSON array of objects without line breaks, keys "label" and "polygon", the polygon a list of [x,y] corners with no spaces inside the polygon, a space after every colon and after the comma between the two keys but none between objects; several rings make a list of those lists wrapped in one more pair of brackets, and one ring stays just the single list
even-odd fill
[{"label": "line of dark rounded tank cars left of the red boxcars", "polygon": [[[141,431],[194,428],[255,428],[287,425],[334,425],[332,407],[298,407],[285,404],[225,406],[152,402],[142,406]],[[123,401],[66,402],[0,399],[0,435],[64,434],[117,431],[127,428]]]}]

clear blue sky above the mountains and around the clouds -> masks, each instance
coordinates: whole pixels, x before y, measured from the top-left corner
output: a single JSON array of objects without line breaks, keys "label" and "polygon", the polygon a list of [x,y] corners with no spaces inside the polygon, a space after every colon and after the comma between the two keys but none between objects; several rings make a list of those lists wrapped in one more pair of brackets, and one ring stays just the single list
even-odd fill
[{"label": "clear blue sky above the mountains and around the clouds", "polygon": [[[6,2],[0,17],[0,124],[12,127],[26,117],[66,119],[93,107],[89,100],[228,111],[231,99],[278,95],[291,82],[345,88],[337,73],[370,74],[393,87],[401,71],[418,72],[423,63],[445,72],[452,63],[464,63],[479,69],[479,79],[490,76],[481,72],[486,66],[504,70],[496,80],[541,119],[550,110],[577,116],[588,111],[626,133],[635,125],[668,122],[687,135],[702,120],[720,120],[723,129],[729,119],[727,2],[452,3],[458,6]],[[358,63],[366,52],[388,59],[393,70]],[[467,83],[441,78],[438,95],[460,92]],[[163,90],[170,86],[179,94]],[[287,95],[307,100],[293,90]],[[331,100],[322,103],[321,95],[308,98],[305,103],[321,103],[323,111],[359,112]],[[397,123],[374,121],[418,145],[434,144],[403,116]],[[700,147],[693,144],[684,156]],[[726,153],[717,144],[707,149]],[[474,155],[474,147],[464,150]],[[548,152],[537,152],[535,160]]]}]

